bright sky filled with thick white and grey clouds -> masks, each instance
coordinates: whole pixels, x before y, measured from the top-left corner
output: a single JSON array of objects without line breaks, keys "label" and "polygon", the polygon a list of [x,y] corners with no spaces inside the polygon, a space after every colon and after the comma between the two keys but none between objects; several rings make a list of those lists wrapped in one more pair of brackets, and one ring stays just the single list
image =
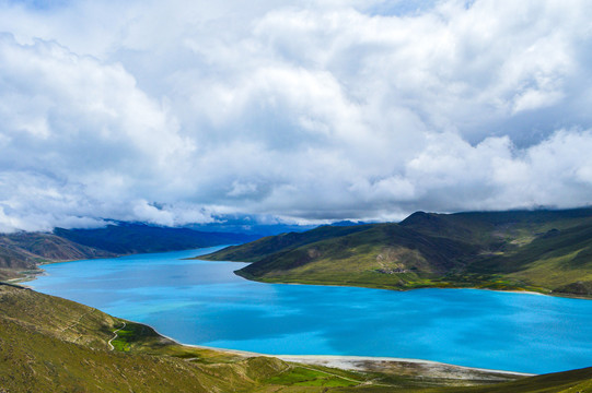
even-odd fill
[{"label": "bright sky filled with thick white and grey clouds", "polygon": [[0,231],[588,206],[590,15],[0,0]]}]

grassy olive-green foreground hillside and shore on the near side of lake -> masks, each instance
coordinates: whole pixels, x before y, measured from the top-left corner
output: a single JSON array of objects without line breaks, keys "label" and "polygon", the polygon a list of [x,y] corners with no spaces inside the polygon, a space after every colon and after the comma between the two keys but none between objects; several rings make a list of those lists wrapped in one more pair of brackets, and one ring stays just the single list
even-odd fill
[{"label": "grassy olive-green foreground hillside and shore on the near side of lake", "polygon": [[184,346],[150,326],[0,284],[0,392],[590,392],[592,368],[524,378],[364,360],[357,371]]}]

